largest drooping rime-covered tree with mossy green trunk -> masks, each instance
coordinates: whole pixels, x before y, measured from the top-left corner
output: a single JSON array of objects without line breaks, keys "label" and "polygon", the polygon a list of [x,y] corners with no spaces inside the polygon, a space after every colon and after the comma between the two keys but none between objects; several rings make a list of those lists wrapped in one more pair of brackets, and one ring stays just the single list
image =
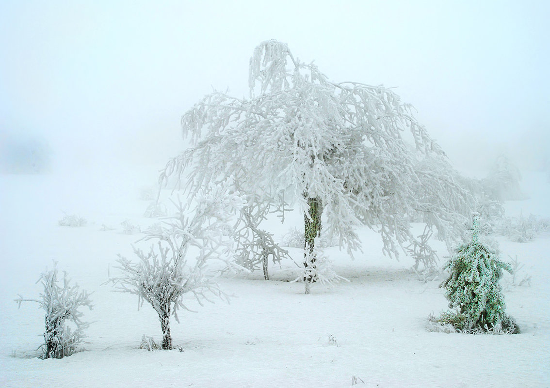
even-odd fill
[{"label": "largest drooping rime-covered tree with mossy green trunk", "polygon": [[249,86],[249,98],[214,92],[183,115],[191,148],[168,162],[161,181],[190,171],[192,195],[234,176],[249,204],[284,211],[298,203],[306,254],[322,219],[350,253],[360,247],[358,225],[378,230],[390,256],[421,245],[410,230],[419,213],[439,237],[460,236],[469,196],[452,177],[418,168],[444,153],[393,91],[331,82],[273,40],[256,47]]}]

